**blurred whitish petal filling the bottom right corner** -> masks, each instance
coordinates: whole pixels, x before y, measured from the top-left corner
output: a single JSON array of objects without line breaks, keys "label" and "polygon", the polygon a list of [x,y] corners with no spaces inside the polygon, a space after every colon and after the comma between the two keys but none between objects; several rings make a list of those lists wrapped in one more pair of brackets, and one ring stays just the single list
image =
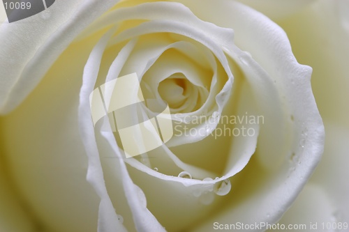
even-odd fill
[{"label": "blurred whitish petal filling the bottom right corner", "polygon": [[327,231],[327,226],[328,231],[336,231],[332,226],[348,223],[349,130],[331,121],[325,121],[325,128],[326,142],[322,160],[279,223],[306,224],[307,229],[302,231],[309,231],[311,223],[318,224],[319,231],[322,231],[322,226],[325,226],[323,231]]}]

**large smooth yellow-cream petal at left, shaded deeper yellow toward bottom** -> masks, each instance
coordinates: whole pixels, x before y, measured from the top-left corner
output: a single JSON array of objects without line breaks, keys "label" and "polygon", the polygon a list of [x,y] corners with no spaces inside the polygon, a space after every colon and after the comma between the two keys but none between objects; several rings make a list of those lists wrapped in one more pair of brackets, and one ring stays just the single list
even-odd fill
[{"label": "large smooth yellow-cream petal at left, shaded deeper yellow toward bottom", "polygon": [[13,185],[47,231],[96,232],[100,199],[86,180],[77,108],[82,71],[98,39],[68,47],[23,104],[0,118]]}]

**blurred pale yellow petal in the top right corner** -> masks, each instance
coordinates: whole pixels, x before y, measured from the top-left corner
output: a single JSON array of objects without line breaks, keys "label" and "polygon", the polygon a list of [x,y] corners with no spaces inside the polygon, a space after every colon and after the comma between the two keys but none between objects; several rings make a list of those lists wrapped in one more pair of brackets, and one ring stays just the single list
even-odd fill
[{"label": "blurred pale yellow petal in the top right corner", "polygon": [[349,3],[316,1],[281,24],[299,62],[311,65],[322,118],[349,128]]}]

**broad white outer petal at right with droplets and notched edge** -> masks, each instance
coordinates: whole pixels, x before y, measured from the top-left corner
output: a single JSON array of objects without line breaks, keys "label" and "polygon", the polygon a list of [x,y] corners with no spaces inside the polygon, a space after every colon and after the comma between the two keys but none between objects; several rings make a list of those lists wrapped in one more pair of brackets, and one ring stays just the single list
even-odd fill
[{"label": "broad white outer petal at right with droplets and notched edge", "polygon": [[[278,123],[276,125],[286,125],[286,129],[290,130],[288,134],[292,134],[292,139],[288,140],[288,135],[283,134],[282,131],[276,132],[276,125],[262,125],[260,137],[267,135],[276,138],[274,135],[279,134],[283,137],[285,144],[283,146],[281,144],[269,144],[270,147],[267,148],[263,147],[265,144],[258,141],[260,143],[255,156],[259,162],[262,162],[262,167],[267,167],[267,170],[274,169],[272,175],[278,176],[271,177],[269,176],[271,174],[262,174],[263,169],[261,169],[259,162],[256,160],[250,161],[242,171],[246,174],[240,176],[247,175],[248,170],[251,171],[251,168],[248,167],[256,165],[255,170],[261,169],[261,173],[258,173],[258,175],[262,180],[253,180],[250,176],[249,178],[245,177],[243,182],[244,187],[251,185],[251,188],[255,189],[253,191],[258,192],[258,194],[252,194],[250,188],[239,189],[235,195],[232,195],[232,202],[235,202],[232,204],[235,204],[235,206],[231,206],[232,210],[228,210],[230,219],[234,218],[235,222],[275,222],[300,192],[305,180],[310,176],[322,154],[324,131],[311,93],[309,81],[311,69],[297,63],[282,29],[255,10],[234,1],[200,1],[200,10],[195,10],[195,3],[192,1],[181,2],[185,2],[186,6],[189,6],[195,15],[198,15],[202,20],[234,29],[236,45],[240,49],[251,52],[253,60],[261,66],[258,68],[258,66],[253,65],[251,56],[248,56],[248,54],[242,56],[243,59],[251,61],[249,68],[244,70],[247,73],[246,77],[254,78],[254,82],[250,82],[251,85],[260,83],[256,82],[258,78],[265,81],[262,84],[262,89],[268,91],[265,92],[264,96],[260,93],[258,96],[261,98],[258,98],[258,100],[263,101],[264,99],[265,102],[268,102],[269,90],[273,91],[272,93],[279,99],[279,103],[276,105],[263,104],[260,108],[262,109],[261,113],[265,115],[267,121],[268,118],[274,117],[265,109],[270,109],[273,113],[279,112],[281,121],[276,121]],[[238,50],[235,52],[240,56],[242,55],[239,54]],[[235,58],[235,60],[237,59]],[[250,73],[255,72],[255,75],[252,73],[248,75],[248,71]],[[276,84],[273,86],[274,81],[276,81]],[[258,90],[257,86],[253,88],[253,91],[256,90]],[[258,94],[258,92],[255,93]],[[270,100],[269,104],[274,101]],[[263,107],[267,108],[263,110]],[[290,111],[285,111],[287,109]],[[285,115],[283,116],[283,114]],[[291,122],[292,116],[287,116],[287,114],[293,114],[293,125]],[[266,130],[268,127],[274,132],[262,135],[262,130]],[[273,127],[274,129],[272,129]],[[278,141],[278,139],[274,140],[271,137],[269,137],[269,142]],[[260,149],[260,146],[263,149]],[[280,153],[276,152],[275,148],[276,150],[281,148]],[[282,148],[288,148],[289,150],[282,150]],[[268,150],[271,152],[269,153]],[[292,159],[292,151],[295,152],[294,159]],[[281,164],[279,172],[278,169],[273,167],[275,160],[279,160]],[[289,169],[290,171],[288,171]],[[252,173],[256,173],[256,171],[252,171]],[[242,177],[236,180],[237,183],[242,184],[238,181],[240,178]],[[256,181],[260,184],[255,185]],[[240,199],[240,197],[244,197],[242,192],[248,194],[248,201]],[[253,210],[256,204],[258,204],[260,210]],[[260,212],[269,212],[269,214],[261,214]],[[227,212],[222,212],[222,215],[225,213]]]}]

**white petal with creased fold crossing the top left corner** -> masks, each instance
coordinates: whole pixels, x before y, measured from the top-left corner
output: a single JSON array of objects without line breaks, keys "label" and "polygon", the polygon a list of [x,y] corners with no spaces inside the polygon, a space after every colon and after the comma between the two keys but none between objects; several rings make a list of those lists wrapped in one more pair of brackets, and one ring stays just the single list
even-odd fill
[{"label": "white petal with creased fold crossing the top left corner", "polygon": [[[75,36],[115,3],[57,1],[20,23],[1,24],[0,113],[15,109]],[[42,14],[50,17],[43,20]]]}]

